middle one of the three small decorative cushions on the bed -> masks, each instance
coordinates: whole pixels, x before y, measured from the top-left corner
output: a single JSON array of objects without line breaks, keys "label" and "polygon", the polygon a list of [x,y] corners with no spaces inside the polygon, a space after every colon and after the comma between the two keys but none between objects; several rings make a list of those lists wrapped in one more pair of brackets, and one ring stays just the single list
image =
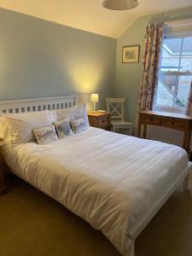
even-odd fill
[{"label": "middle one of the three small decorative cushions on the bed", "polygon": [[54,123],[54,125],[59,138],[74,135],[68,119],[64,119],[59,122],[56,122]]}]

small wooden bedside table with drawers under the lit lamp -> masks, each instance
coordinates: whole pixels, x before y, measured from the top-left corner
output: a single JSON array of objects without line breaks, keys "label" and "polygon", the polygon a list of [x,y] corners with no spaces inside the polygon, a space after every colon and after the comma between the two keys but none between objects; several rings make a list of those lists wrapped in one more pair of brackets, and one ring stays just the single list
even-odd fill
[{"label": "small wooden bedside table with drawers under the lit lamp", "polygon": [[90,126],[101,128],[104,130],[110,130],[110,116],[109,112],[88,112],[88,119],[90,122]]}]

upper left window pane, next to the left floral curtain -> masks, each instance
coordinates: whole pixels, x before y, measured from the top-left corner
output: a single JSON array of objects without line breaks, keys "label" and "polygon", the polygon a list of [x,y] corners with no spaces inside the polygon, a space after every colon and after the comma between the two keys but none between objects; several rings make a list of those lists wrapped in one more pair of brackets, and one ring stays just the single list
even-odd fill
[{"label": "upper left window pane, next to the left floral curtain", "polygon": [[165,38],[163,40],[161,66],[162,71],[178,71],[182,38]]}]

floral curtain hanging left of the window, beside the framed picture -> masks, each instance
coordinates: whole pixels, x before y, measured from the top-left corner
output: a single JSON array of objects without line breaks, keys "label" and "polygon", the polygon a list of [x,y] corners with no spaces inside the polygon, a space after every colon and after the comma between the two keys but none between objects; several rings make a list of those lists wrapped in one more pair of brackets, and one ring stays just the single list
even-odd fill
[{"label": "floral curtain hanging left of the window, beside the framed picture", "polygon": [[158,82],[160,49],[163,23],[149,24],[146,27],[143,46],[143,76],[139,90],[138,109],[152,110],[154,91]]}]

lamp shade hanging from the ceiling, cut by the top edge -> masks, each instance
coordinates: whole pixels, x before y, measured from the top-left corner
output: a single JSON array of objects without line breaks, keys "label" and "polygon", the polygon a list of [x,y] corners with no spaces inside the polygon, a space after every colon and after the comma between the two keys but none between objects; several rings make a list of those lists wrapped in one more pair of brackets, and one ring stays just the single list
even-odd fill
[{"label": "lamp shade hanging from the ceiling, cut by the top edge", "polygon": [[137,7],[137,0],[105,0],[102,6],[107,9],[124,10]]}]

